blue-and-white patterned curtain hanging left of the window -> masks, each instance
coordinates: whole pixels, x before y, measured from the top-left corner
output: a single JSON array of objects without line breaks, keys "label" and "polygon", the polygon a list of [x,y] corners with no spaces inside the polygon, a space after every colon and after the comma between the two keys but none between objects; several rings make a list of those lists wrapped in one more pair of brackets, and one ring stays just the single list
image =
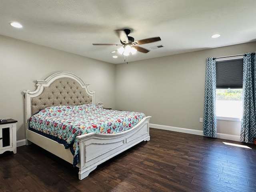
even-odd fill
[{"label": "blue-and-white patterned curtain hanging left of the window", "polygon": [[203,134],[217,138],[216,62],[213,57],[206,59]]}]

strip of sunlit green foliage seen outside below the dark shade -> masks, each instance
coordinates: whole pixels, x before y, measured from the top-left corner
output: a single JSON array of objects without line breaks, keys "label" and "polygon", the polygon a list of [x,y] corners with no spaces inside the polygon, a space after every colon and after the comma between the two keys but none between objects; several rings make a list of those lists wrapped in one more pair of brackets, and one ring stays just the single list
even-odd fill
[{"label": "strip of sunlit green foliage seen outside below the dark shade", "polygon": [[242,100],[242,89],[216,89],[216,100]]}]

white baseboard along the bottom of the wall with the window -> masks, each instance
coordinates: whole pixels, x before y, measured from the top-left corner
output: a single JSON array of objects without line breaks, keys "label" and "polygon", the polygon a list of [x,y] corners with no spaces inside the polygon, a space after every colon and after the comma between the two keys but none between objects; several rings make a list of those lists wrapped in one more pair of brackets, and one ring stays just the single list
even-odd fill
[{"label": "white baseboard along the bottom of the wall with the window", "polygon": [[[156,128],[156,129],[162,129],[162,130],[168,130],[168,131],[175,131],[175,132],[181,132],[181,133],[188,133],[188,134],[193,134],[193,135],[204,136],[203,131],[195,130],[195,129],[187,129],[187,128],[167,126],[167,125],[158,125],[158,124],[152,124],[152,123],[150,123],[149,126],[151,128]],[[224,134],[224,133],[217,133],[217,138],[232,140],[232,141],[240,141],[240,136],[238,136],[238,135],[229,135],[229,134]]]}]

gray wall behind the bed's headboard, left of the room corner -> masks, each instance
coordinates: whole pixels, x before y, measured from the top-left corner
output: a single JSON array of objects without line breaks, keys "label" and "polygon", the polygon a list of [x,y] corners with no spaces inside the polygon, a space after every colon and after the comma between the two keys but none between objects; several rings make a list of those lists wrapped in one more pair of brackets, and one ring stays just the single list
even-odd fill
[{"label": "gray wall behind the bed's headboard, left of the room corner", "polygon": [[80,76],[96,92],[96,103],[115,108],[114,64],[0,36],[0,118],[18,120],[17,140],[25,139],[23,91],[60,71]]}]

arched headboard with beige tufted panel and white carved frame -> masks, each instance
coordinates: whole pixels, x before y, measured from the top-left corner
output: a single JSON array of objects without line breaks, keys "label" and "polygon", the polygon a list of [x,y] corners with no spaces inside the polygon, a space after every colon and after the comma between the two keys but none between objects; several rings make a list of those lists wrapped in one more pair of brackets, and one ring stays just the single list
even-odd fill
[{"label": "arched headboard with beige tufted panel and white carved frame", "polygon": [[89,84],[70,72],[58,72],[45,80],[37,80],[36,86],[34,92],[24,91],[26,123],[33,114],[49,106],[95,104],[95,93],[88,90]]}]

